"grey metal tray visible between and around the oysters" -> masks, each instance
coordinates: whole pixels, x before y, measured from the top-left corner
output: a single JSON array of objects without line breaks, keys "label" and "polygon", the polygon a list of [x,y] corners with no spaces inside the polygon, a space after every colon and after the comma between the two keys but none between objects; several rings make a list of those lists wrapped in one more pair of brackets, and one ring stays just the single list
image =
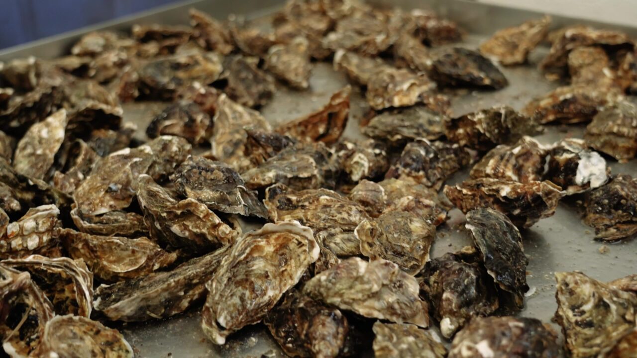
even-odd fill
[{"label": "grey metal tray visible between and around the oysters", "polygon": [[[480,41],[502,27],[519,24],[542,14],[526,10],[513,10],[498,6],[478,4],[462,0],[380,0],[370,1],[386,6],[404,9],[425,8],[437,11],[443,17],[458,22],[469,32],[462,46],[475,48]],[[66,54],[68,48],[82,34],[97,29],[118,29],[126,31],[136,23],[187,24],[190,7],[211,13],[217,18],[225,18],[230,13],[245,14],[248,18],[268,15],[281,6],[283,0],[244,1],[190,1],[176,6],[165,6],[141,15],[127,17],[115,22],[107,22],[61,36],[36,41],[21,47],[0,52],[0,61],[34,55],[36,57],[57,57]],[[599,24],[574,18],[554,17],[554,27],[568,24],[590,24],[620,29],[635,36],[637,29]],[[462,115],[478,108],[493,104],[509,104],[521,109],[532,97],[545,94],[556,87],[555,83],[543,78],[536,65],[547,54],[548,48],[535,50],[526,66],[504,68],[510,85],[494,92],[456,91],[452,98],[454,115]],[[272,103],[262,109],[263,115],[273,123],[286,122],[299,115],[309,113],[322,106],[331,94],[347,83],[346,78],[336,73],[331,64],[317,63],[307,92],[293,92],[281,86]],[[368,108],[359,93],[354,93],[352,111],[345,136],[360,136],[359,120]],[[143,138],[143,130],[154,115],[164,108],[162,103],[131,103],[124,106],[124,120],[140,126],[138,136]],[[554,125],[538,140],[548,144],[567,136],[581,137],[582,126]],[[613,173],[637,175],[637,161],[619,164],[609,160]],[[460,182],[467,173],[458,173],[450,180]],[[526,297],[526,307],[519,315],[536,317],[550,322],[555,312],[556,271],[580,270],[599,280],[607,281],[637,273],[637,240],[605,244],[610,252],[601,254],[603,243],[593,240],[590,227],[582,224],[579,202],[581,197],[569,197],[560,203],[553,217],[540,220],[530,229],[522,231],[524,247],[529,256],[528,283],[531,287]],[[450,219],[439,227],[431,256],[438,257],[445,252],[454,252],[470,242],[463,227],[464,215],[452,210]],[[183,315],[159,322],[127,324],[118,326],[127,340],[135,348],[138,357],[283,357],[284,355],[270,338],[262,325],[246,327],[234,334],[224,347],[212,345],[204,337],[199,327],[199,308]],[[556,327],[559,328],[559,327]]]}]

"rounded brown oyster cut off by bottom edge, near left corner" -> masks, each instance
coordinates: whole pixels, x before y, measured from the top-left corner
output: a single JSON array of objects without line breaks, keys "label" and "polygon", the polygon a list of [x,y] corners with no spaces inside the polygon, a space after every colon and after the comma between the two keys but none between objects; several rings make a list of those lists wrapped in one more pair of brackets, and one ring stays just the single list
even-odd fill
[{"label": "rounded brown oyster cut off by bottom edge, near left corner", "polygon": [[134,351],[117,329],[73,315],[49,320],[34,352],[38,357],[132,358]]}]

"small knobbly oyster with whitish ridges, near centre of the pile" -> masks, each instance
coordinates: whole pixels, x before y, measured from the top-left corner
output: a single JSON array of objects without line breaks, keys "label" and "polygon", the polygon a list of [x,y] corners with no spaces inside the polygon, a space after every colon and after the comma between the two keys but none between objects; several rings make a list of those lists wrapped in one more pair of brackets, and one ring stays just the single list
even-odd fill
[{"label": "small knobbly oyster with whitish ridges, near centre of the pile", "polygon": [[389,169],[387,147],[381,141],[365,140],[357,143],[342,141],[336,145],[336,156],[347,182],[375,179]]}]

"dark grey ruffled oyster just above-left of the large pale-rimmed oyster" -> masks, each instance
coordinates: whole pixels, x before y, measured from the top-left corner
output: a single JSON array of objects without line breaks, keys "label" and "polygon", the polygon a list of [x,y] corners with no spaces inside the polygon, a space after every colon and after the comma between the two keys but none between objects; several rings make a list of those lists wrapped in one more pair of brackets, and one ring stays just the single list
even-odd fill
[{"label": "dark grey ruffled oyster just above-left of the large pale-rimmed oyster", "polygon": [[171,176],[179,194],[211,210],[243,216],[266,217],[257,193],[245,187],[241,176],[222,162],[190,156]]}]

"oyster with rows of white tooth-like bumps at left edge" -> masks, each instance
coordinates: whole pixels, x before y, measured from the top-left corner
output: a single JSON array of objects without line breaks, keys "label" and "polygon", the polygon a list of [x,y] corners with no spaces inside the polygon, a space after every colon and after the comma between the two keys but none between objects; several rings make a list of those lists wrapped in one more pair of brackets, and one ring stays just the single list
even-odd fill
[{"label": "oyster with rows of white tooth-like bumps at left edge", "polygon": [[[5,214],[6,215],[6,214]],[[0,238],[0,256],[24,257],[34,252],[45,253],[57,245],[60,210],[54,204],[36,206],[8,225]]]}]

